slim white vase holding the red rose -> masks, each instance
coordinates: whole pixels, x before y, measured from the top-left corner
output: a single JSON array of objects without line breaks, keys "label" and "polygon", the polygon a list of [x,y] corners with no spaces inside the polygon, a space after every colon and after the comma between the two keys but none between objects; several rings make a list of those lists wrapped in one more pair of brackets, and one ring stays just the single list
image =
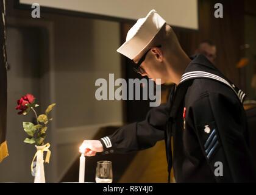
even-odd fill
[{"label": "slim white vase holding the red rose", "polygon": [[35,164],[35,180],[34,183],[45,183],[44,177],[44,160],[43,149],[45,146],[35,146],[37,148],[37,161]]}]

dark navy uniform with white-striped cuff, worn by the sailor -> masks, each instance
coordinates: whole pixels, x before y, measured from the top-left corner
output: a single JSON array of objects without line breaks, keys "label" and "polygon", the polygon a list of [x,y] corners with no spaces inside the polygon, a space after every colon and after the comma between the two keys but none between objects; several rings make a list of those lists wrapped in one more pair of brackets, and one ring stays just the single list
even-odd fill
[{"label": "dark navy uniform with white-striped cuff, worn by the sailor", "polygon": [[[168,103],[101,138],[104,151],[146,149],[165,139],[176,182],[256,182],[243,109],[245,94],[196,55]],[[173,137],[173,158],[171,151]]]}]

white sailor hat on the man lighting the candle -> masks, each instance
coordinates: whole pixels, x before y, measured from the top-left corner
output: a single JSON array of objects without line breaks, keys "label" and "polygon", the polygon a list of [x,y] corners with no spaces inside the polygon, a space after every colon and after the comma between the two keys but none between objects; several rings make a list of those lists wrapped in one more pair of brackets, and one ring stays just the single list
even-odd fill
[{"label": "white sailor hat on the man lighting the candle", "polygon": [[151,10],[145,18],[140,18],[127,33],[126,42],[116,51],[133,60],[147,48],[158,31],[166,23],[155,10]]}]

